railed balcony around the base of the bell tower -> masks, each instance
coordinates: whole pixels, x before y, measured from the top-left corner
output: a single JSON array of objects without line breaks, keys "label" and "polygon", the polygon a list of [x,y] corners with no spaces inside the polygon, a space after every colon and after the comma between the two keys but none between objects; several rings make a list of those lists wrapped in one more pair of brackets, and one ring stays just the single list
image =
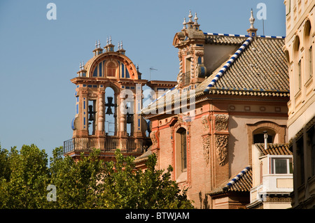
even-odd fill
[{"label": "railed balcony around the base of the bell tower", "polygon": [[[125,142],[126,149],[122,149],[120,143],[123,143],[125,140],[127,140]],[[69,152],[87,152],[93,148],[100,149],[101,152],[115,152],[116,149],[121,149],[122,152],[139,152],[135,138],[122,138],[121,141],[116,136],[106,136],[106,138],[71,138],[64,141],[64,154]]]}]

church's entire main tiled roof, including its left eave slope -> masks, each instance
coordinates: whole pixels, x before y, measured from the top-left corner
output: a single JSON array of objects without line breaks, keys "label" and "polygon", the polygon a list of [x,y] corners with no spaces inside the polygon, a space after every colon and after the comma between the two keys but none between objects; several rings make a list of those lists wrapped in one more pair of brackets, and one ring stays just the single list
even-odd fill
[{"label": "church's entire main tiled roof, including its left eave slope", "polygon": [[[209,44],[244,45],[241,52],[235,52],[237,57],[227,59],[208,78],[195,88],[195,97],[204,94],[252,95],[252,96],[289,96],[288,66],[282,47],[284,38],[281,36],[207,34]],[[231,60],[232,59],[232,60]],[[228,64],[228,68],[226,68]],[[220,77],[213,81],[218,72]],[[213,87],[209,87],[214,83]],[[188,91],[189,92],[189,91]],[[167,97],[172,94],[172,97]],[[189,96],[189,95],[188,95]],[[166,99],[165,99],[166,98]],[[162,101],[160,101],[162,99]],[[162,106],[174,105],[179,99],[180,90],[176,87],[153,101],[144,108],[143,113],[149,113]],[[186,99],[183,99],[186,101]]]}]

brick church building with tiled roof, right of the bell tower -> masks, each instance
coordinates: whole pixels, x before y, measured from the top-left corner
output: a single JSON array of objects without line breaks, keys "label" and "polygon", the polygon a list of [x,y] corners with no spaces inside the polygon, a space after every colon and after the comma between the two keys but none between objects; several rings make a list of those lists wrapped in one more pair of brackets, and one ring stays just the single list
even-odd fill
[{"label": "brick church building with tiled roof, right of the bell tower", "polygon": [[[253,163],[259,164],[253,159],[263,156],[253,145],[265,143],[278,151],[288,143],[285,40],[257,36],[252,11],[245,35],[207,33],[197,20],[197,13],[190,12],[174,36],[177,85],[142,109],[142,117],[150,121],[152,145],[136,163],[145,168],[154,152],[158,168],[172,165],[172,179],[188,188],[195,208],[259,208],[255,203],[246,207],[251,203]],[[281,187],[292,187],[292,174],[286,175]],[[264,197],[290,203],[289,193],[269,197],[266,192]]]}]

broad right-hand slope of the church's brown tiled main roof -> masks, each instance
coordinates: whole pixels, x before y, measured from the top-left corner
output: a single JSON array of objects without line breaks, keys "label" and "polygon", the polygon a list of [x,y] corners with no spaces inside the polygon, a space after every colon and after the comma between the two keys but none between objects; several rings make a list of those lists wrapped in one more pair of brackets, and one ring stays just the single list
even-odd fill
[{"label": "broad right-hand slope of the church's brown tiled main roof", "polygon": [[[288,66],[282,51],[283,45],[283,38],[255,38],[230,64],[221,78],[218,78],[216,84],[211,87],[210,93],[217,93],[219,90],[220,92],[245,91],[258,94],[265,92],[269,96],[288,95],[290,88]],[[217,73],[214,71],[197,87],[196,91],[204,90]]]}]

